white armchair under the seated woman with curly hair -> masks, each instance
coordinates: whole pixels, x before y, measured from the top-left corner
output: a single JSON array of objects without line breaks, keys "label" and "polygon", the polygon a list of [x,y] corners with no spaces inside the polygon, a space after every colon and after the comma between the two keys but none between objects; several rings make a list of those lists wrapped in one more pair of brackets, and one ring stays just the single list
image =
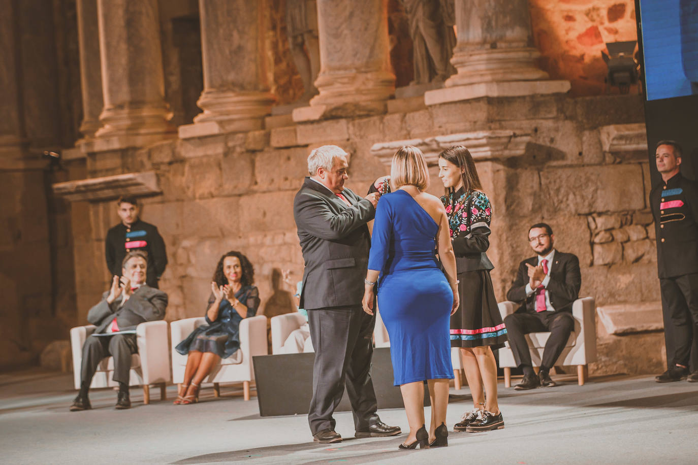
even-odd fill
[{"label": "white armchair under the seated woman with curly hair", "polygon": [[[186,318],[172,321],[172,382],[181,385],[184,382],[184,369],[188,356],[174,350],[195,328],[206,323],[204,317]],[[211,373],[203,382],[213,383],[216,397],[220,397],[221,383],[242,383],[245,400],[250,399],[250,381],[254,381],[255,372],[252,365],[253,356],[267,355],[267,317],[257,315],[240,321],[240,349],[228,358],[221,359],[214,365]]]}]

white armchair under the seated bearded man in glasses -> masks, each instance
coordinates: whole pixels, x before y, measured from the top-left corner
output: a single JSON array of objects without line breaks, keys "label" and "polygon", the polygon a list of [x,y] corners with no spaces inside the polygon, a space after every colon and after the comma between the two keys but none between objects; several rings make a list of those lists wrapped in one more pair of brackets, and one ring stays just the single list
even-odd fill
[{"label": "white armchair under the seated bearded man in glasses", "polygon": [[[574,303],[572,303],[574,330],[572,330],[570,339],[567,340],[565,349],[563,349],[556,363],[556,365],[577,365],[577,382],[579,386],[584,385],[584,381],[588,378],[587,365],[596,361],[595,307],[593,297],[574,300]],[[507,315],[514,313],[516,309],[517,305],[510,301],[499,304],[499,311],[503,319]],[[549,332],[529,333],[526,335],[534,367],[540,367],[543,349],[549,336]],[[509,342],[505,344],[505,347],[499,349],[499,366],[504,369],[504,386],[509,388],[512,385],[512,368],[517,366]]]}]

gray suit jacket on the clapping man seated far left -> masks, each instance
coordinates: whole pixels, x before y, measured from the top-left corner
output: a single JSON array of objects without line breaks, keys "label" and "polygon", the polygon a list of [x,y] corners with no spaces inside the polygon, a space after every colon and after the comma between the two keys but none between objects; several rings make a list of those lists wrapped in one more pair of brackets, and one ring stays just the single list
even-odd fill
[{"label": "gray suit jacket on the clapping man seated far left", "polygon": [[106,333],[114,317],[117,319],[119,330],[133,330],[145,321],[165,318],[168,295],[160,289],[143,284],[133,291],[124,305],[121,305],[124,294],[114,299],[111,305],[107,303],[108,295],[109,291],[105,292],[100,303],[87,312],[87,321],[97,326],[95,333]]}]

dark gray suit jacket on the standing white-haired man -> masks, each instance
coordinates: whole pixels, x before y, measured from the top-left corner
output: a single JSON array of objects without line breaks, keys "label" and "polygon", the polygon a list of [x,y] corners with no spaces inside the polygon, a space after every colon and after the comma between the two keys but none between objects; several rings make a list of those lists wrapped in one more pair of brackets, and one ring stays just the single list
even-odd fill
[{"label": "dark gray suit jacket on the standing white-haired man", "polygon": [[366,223],[376,209],[349,189],[347,206],[306,177],[293,201],[305,270],[300,306],[306,310],[361,305],[371,236]]}]

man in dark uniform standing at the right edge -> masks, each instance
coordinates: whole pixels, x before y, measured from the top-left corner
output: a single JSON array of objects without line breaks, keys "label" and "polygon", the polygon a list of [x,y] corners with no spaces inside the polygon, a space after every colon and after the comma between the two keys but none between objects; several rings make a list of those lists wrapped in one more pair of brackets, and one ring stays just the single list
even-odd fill
[{"label": "man in dark uniform standing at the right edge", "polygon": [[[698,381],[689,374],[693,331],[698,323],[698,188],[681,176],[681,146],[661,141],[655,149],[662,182],[650,192],[657,231],[657,266],[662,290],[664,339],[673,342],[674,356],[658,383]],[[667,327],[669,323],[669,327]]]}]

